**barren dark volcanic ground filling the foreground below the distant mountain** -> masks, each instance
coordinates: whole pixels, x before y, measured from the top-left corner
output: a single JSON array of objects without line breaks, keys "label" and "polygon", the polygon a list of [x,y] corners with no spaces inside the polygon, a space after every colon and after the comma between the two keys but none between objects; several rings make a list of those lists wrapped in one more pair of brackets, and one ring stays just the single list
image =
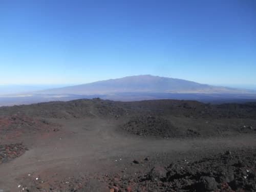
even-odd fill
[{"label": "barren dark volcanic ground filling the foreground below the distant mountain", "polygon": [[0,191],[255,191],[256,103],[0,108]]}]

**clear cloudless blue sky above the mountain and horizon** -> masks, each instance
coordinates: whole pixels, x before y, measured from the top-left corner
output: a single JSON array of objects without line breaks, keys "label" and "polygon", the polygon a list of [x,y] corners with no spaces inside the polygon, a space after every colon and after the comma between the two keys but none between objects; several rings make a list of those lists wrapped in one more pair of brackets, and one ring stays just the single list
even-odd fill
[{"label": "clear cloudless blue sky above the mountain and horizon", "polygon": [[256,1],[0,1],[0,84],[256,84]]}]

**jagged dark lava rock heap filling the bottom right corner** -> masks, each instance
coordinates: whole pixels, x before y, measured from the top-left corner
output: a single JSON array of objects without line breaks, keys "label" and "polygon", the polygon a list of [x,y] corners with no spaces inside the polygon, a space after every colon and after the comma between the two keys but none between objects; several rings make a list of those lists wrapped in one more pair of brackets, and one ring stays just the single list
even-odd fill
[{"label": "jagged dark lava rock heap filling the bottom right corner", "polygon": [[[180,160],[149,172],[113,179],[131,191],[256,191],[256,150],[228,151],[198,161]],[[141,174],[139,174],[141,173]],[[127,191],[125,187],[115,191]]]}]

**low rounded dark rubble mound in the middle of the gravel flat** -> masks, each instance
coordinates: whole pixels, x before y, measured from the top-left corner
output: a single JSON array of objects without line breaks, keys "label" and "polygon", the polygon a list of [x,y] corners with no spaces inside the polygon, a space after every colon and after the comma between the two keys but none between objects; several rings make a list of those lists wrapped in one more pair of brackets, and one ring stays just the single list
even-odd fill
[{"label": "low rounded dark rubble mound in the middle of the gravel flat", "polygon": [[167,119],[154,115],[140,115],[131,118],[122,127],[125,131],[140,136],[160,136],[164,138],[179,135],[178,129]]}]

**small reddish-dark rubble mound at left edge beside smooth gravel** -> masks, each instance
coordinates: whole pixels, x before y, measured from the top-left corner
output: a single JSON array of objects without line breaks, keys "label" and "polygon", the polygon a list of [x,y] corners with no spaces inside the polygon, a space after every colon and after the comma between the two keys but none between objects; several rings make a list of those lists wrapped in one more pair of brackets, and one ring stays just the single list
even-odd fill
[{"label": "small reddish-dark rubble mound at left edge beside smooth gravel", "polygon": [[22,143],[0,145],[0,164],[23,155],[26,150]]}]

